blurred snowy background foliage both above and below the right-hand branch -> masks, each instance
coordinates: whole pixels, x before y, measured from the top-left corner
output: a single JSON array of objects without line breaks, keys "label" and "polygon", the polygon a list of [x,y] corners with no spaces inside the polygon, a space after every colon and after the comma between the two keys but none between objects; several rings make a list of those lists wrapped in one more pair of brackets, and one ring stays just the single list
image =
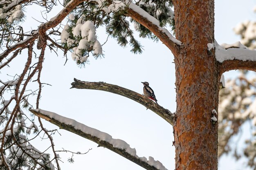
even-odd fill
[{"label": "blurred snowy background foliage both above and below the right-hand branch", "polygon": [[[256,22],[245,21],[239,23],[234,32],[241,37],[241,43],[249,49],[256,49]],[[222,44],[226,46],[226,44]],[[235,46],[240,46],[239,42]],[[231,45],[232,46],[232,45]],[[229,48],[226,46],[226,48]],[[245,48],[245,47],[244,47]],[[256,76],[248,75],[248,71],[240,71],[236,79],[228,80],[226,87],[220,91],[218,117],[218,156],[231,152],[236,159],[243,156],[248,158],[248,166],[256,169]],[[238,141],[245,142],[245,146],[234,148],[232,137],[243,132],[243,125],[250,124],[250,136]],[[244,129],[248,131],[247,129]],[[233,141],[234,142],[234,141]]]}]

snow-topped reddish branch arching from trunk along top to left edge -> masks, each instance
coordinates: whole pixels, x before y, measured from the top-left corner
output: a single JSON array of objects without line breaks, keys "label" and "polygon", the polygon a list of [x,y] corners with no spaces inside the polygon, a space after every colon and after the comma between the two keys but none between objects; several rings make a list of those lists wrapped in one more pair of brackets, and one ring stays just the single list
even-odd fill
[{"label": "snow-topped reddish branch arching from trunk along top to left edge", "polygon": [[[90,0],[89,2],[97,2],[98,4],[102,3],[101,0]],[[113,3],[114,2],[116,4],[111,4],[111,1],[109,7],[112,7],[113,5],[117,6],[115,7],[115,10],[119,9],[119,6],[126,8],[127,10],[126,13],[124,13],[125,15],[131,17],[132,19],[136,20],[137,22],[148,28],[150,31],[152,31],[152,33],[154,33],[159,38],[159,40],[161,40],[169,49],[171,49],[174,54],[178,53],[179,46],[182,44],[182,42],[176,40],[167,29],[162,28],[156,18],[154,18],[149,13],[138,7],[136,4],[128,0],[124,2],[118,1],[119,3],[117,3],[117,1],[113,1]],[[25,45],[29,44],[29,42],[36,39],[38,39],[37,48],[41,49],[41,47],[46,43],[46,31],[50,28],[54,28],[59,23],[61,23],[61,21],[80,3],[81,0],[71,0],[56,16],[51,18],[48,22],[41,24],[39,26],[38,32],[36,31],[32,33],[32,35],[26,40],[9,47],[6,51],[4,51],[4,53],[0,54],[0,62],[4,59],[4,57],[7,57],[10,52],[14,51],[19,47],[24,47]]]}]

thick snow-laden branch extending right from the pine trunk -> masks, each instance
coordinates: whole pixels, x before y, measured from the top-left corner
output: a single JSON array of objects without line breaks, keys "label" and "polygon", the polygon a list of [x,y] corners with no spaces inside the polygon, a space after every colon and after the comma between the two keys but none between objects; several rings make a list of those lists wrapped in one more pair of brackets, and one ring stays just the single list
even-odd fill
[{"label": "thick snow-laden branch extending right from the pine trunk", "polygon": [[220,46],[215,41],[214,46],[216,60],[220,62],[220,74],[236,69],[256,71],[255,50],[249,50],[240,43]]}]

